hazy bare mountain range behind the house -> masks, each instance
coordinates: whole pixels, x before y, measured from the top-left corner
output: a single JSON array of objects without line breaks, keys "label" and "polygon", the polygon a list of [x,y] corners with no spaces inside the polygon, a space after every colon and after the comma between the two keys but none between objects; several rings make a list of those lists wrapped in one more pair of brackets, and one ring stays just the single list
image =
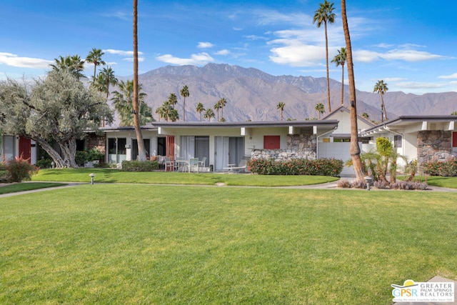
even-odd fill
[{"label": "hazy bare mountain range behind the house", "polygon": [[[276,105],[279,101],[285,104],[284,120],[316,118],[318,113],[314,108],[318,103],[324,104],[328,111],[326,78],[323,77],[273,76],[253,68],[207,64],[202,67],[164,66],[141,74],[139,83],[147,94],[146,103],[153,109],[156,121],[159,120],[156,109],[171,93],[178,96],[176,109],[182,118],[183,97],[179,92],[184,85],[189,87],[186,121],[200,120],[200,115],[195,110],[199,102],[204,104],[205,109],[212,109],[221,98],[227,100],[224,107],[226,121],[278,121],[280,111]],[[330,91],[333,110],[341,105],[341,82],[330,79]],[[356,91],[356,98],[358,114],[366,112],[370,120],[381,121],[379,94]],[[457,111],[455,91],[423,95],[388,91],[383,99],[388,119],[402,115],[449,115]],[[344,105],[348,104],[349,89],[345,86]]]}]

